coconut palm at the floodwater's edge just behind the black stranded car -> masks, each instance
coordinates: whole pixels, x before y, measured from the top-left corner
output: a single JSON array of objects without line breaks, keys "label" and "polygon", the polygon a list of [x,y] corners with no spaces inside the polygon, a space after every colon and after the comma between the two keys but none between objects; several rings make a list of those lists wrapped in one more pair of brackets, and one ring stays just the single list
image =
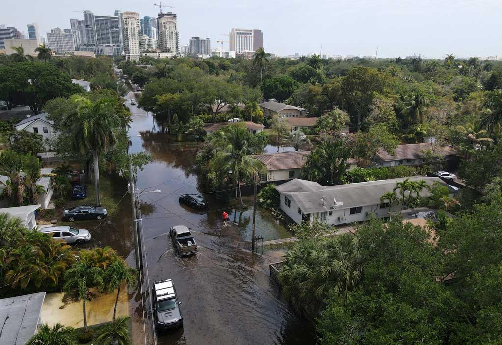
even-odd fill
[{"label": "coconut palm at the floodwater's edge just behind the black stranded car", "polygon": [[256,144],[252,143],[251,136],[252,134],[247,132],[245,126],[240,126],[240,124],[228,126],[221,143],[222,148],[209,162],[212,169],[222,168],[223,171],[228,171],[230,179],[239,186],[242,206],[244,206],[244,202],[242,201],[240,181],[255,181],[258,179],[259,172],[263,170],[262,163],[249,156],[260,150],[259,147],[255,146]]}]

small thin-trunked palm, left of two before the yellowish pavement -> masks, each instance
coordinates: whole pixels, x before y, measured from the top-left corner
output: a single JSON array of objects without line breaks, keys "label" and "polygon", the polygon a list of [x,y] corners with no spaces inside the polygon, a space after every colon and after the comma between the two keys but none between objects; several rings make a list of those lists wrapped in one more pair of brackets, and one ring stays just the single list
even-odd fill
[{"label": "small thin-trunked palm, left of two before the yellowish pavement", "polygon": [[97,286],[102,289],[103,284],[103,270],[98,267],[88,267],[84,261],[79,261],[73,265],[71,269],[64,274],[65,283],[63,291],[70,293],[73,289],[77,290],[78,298],[83,299],[84,307],[84,332],[88,332],[87,327],[87,314],[85,312],[85,301],[89,293],[89,288]]}]

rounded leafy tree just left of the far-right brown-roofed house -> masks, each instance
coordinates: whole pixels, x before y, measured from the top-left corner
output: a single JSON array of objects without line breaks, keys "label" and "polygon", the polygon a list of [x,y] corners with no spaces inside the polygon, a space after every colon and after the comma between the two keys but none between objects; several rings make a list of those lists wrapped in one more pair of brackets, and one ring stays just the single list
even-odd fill
[{"label": "rounded leafy tree just left of the far-right brown-roofed house", "polygon": [[392,155],[399,144],[400,141],[389,133],[387,126],[379,124],[371,127],[367,133],[356,134],[354,150],[358,157],[374,162],[380,148]]}]

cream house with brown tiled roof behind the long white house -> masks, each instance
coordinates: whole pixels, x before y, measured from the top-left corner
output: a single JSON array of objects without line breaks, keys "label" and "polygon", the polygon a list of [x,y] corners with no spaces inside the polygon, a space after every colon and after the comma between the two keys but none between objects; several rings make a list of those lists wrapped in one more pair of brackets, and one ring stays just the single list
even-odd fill
[{"label": "cream house with brown tiled roof behind the long white house", "polygon": [[[260,174],[260,181],[274,182],[276,184],[300,177],[301,171],[307,161],[310,151],[289,151],[253,155],[265,167],[266,172]],[[357,161],[349,158],[347,170],[357,167]]]}]

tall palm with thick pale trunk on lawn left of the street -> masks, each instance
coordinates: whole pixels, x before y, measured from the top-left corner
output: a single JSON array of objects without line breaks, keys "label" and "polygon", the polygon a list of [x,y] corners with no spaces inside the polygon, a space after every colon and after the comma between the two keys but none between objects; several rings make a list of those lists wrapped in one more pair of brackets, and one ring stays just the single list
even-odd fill
[{"label": "tall palm with thick pale trunk on lawn left of the street", "polygon": [[99,196],[99,156],[113,148],[117,143],[117,130],[121,119],[115,111],[112,99],[102,98],[92,102],[82,95],[73,95],[77,104],[76,115],[65,119],[66,125],[73,128],[72,145],[76,151],[86,154],[92,152],[94,160],[94,185],[96,205],[101,205]]}]

